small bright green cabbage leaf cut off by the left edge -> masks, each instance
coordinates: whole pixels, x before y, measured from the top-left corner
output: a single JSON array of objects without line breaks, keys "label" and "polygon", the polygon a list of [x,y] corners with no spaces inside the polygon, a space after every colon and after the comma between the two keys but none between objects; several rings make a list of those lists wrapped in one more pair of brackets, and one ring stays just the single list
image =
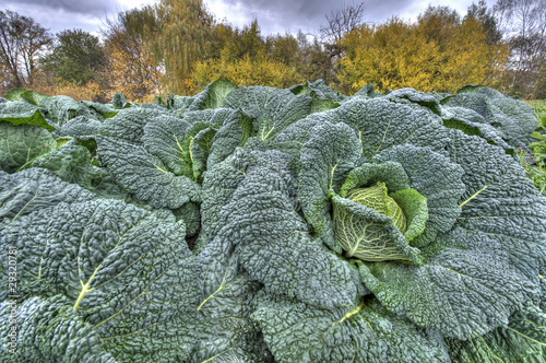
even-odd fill
[{"label": "small bright green cabbage leaf cut off by the left edge", "polygon": [[51,133],[40,127],[0,122],[0,168],[7,173],[17,172],[56,147]]}]

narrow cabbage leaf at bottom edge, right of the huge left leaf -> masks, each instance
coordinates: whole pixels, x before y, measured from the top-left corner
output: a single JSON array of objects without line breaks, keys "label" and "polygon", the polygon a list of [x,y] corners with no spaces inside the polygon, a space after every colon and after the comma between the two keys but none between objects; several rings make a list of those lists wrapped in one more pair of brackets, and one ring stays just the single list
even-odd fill
[{"label": "narrow cabbage leaf at bottom edge, right of the huge left leaf", "polygon": [[242,269],[234,244],[216,238],[199,254],[198,260],[197,311],[214,340],[202,339],[192,362],[272,361],[258,325],[250,319],[252,298],[261,284]]}]

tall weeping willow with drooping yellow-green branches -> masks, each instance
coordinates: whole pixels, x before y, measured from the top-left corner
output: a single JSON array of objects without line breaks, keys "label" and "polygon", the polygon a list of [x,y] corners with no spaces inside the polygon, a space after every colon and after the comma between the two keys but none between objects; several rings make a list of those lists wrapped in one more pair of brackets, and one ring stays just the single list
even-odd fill
[{"label": "tall weeping willow with drooping yellow-green branches", "polygon": [[143,38],[155,65],[165,70],[167,92],[186,94],[195,62],[207,54],[212,15],[202,0],[161,0],[129,14],[128,30]]}]

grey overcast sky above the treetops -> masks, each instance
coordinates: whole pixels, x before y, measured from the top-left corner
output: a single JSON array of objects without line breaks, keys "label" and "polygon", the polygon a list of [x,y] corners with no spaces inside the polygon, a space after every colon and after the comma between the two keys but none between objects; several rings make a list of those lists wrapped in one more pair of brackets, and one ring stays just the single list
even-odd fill
[{"label": "grey overcast sky above the treetops", "polygon": [[[365,21],[383,22],[399,15],[414,21],[427,5],[450,5],[464,15],[472,2],[478,0],[376,0],[365,1]],[[9,9],[31,16],[41,26],[57,33],[66,28],[82,28],[96,34],[107,16],[120,10],[140,8],[154,0],[1,0],[0,10]],[[302,30],[316,33],[325,23],[325,14],[340,8],[339,0],[204,0],[209,10],[218,20],[242,27],[258,19],[262,34]],[[358,3],[358,0],[355,0]],[[496,0],[487,0],[489,7]],[[351,0],[346,3],[352,3]]]}]

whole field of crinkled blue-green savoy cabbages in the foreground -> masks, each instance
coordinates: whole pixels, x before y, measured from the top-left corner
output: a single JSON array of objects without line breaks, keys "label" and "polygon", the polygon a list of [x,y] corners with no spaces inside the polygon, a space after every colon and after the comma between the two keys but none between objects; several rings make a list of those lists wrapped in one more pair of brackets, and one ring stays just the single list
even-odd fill
[{"label": "whole field of crinkled blue-green savoy cabbages in the foreground", "polygon": [[543,362],[534,110],[218,80],[0,98],[1,362]]}]

